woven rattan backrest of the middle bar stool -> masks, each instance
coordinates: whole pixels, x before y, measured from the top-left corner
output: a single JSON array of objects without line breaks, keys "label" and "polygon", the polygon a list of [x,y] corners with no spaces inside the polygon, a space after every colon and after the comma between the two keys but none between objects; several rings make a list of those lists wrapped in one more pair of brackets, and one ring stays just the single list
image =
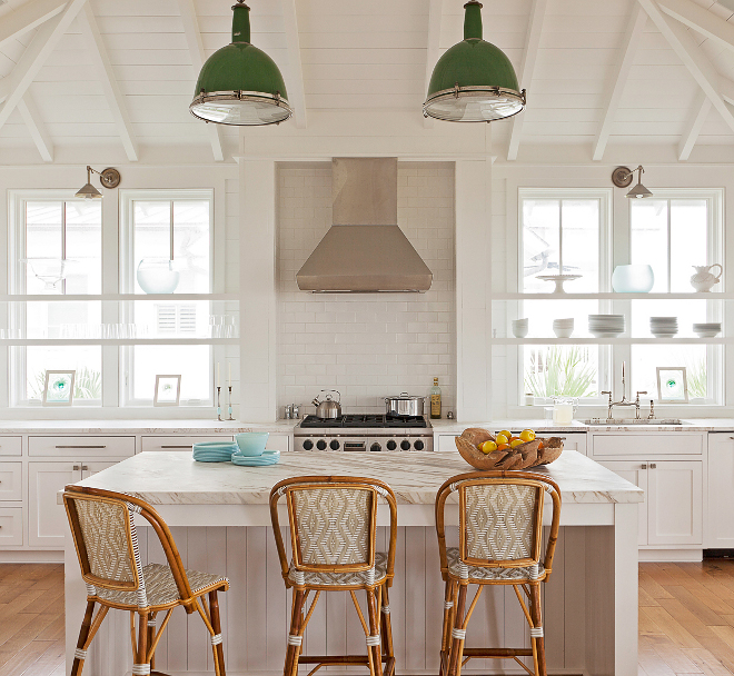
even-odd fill
[{"label": "woven rattan backrest of the middle bar stool", "polygon": [[375,567],[377,504],[390,507],[388,575],[395,561],[395,495],[381,481],[355,477],[286,479],[270,493],[270,515],[284,576],[289,565],[280,535],[277,503],[284,496],[292,547],[292,565],[304,573],[360,573]]}]

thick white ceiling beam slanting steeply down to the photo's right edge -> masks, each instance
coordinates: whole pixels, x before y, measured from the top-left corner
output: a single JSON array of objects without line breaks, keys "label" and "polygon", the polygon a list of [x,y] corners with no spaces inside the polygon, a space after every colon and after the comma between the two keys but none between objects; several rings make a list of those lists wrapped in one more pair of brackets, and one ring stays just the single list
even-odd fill
[{"label": "thick white ceiling beam slanting steeply down to the photo's right edge", "polygon": [[734,131],[734,111],[720,93],[722,78],[688,31],[675,20],[663,14],[655,0],[638,0],[657,30],[663,33],[673,51],[678,56],[688,72],[696,80],[712,106]]}]

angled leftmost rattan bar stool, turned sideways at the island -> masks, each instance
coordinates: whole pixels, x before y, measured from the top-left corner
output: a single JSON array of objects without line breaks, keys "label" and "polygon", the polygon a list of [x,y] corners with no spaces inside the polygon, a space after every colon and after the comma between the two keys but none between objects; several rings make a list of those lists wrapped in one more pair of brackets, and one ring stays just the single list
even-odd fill
[{"label": "angled leftmost rattan bar stool, turned sideways at the island", "polygon": [[[209,573],[186,570],[168,526],[143,500],[109,490],[67,486],[63,504],[81,577],[87,584],[87,612],[79,632],[71,676],[80,676],[87,649],[110,608],[130,613],[132,675],[160,675],[160,672],[151,670],[155,668],[156,647],[177,606],[184,606],[188,614],[199,613],[211,636],[215,673],[225,676],[217,593],[226,592],[229,580]],[[136,513],[158,535],[168,565],[142,566],[133,519]],[[207,594],[208,607],[204,598]],[[97,615],[96,605],[99,605]],[[163,610],[166,615],[156,630],[156,615]]]}]

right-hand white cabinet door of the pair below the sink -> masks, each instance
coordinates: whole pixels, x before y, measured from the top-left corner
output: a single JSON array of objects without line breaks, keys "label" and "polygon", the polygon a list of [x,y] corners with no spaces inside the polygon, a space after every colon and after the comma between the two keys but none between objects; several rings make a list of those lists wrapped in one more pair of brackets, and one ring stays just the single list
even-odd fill
[{"label": "right-hand white cabinet door of the pair below the sink", "polygon": [[703,545],[703,463],[649,463],[647,489],[648,544]]}]

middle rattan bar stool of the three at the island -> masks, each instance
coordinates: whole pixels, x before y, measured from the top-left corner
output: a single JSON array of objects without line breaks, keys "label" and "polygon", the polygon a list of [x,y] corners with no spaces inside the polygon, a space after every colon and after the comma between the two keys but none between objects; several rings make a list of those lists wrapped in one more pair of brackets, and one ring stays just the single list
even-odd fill
[{"label": "middle rattan bar stool of the three at the island", "polygon": [[[278,500],[284,496],[292,543],[290,563],[278,519]],[[390,509],[387,554],[375,550],[380,498]],[[270,517],[282,578],[286,588],[294,590],[284,676],[297,676],[299,664],[316,665],[310,674],[325,665],[363,664],[371,676],[394,676],[388,587],[395,568],[397,505],[390,487],[355,477],[286,479],[270,493]],[[357,600],[358,590],[367,594],[367,619]],[[307,609],[311,592],[315,595]],[[367,655],[301,655],[304,632],[321,592],[349,593],[365,630]]]}]

